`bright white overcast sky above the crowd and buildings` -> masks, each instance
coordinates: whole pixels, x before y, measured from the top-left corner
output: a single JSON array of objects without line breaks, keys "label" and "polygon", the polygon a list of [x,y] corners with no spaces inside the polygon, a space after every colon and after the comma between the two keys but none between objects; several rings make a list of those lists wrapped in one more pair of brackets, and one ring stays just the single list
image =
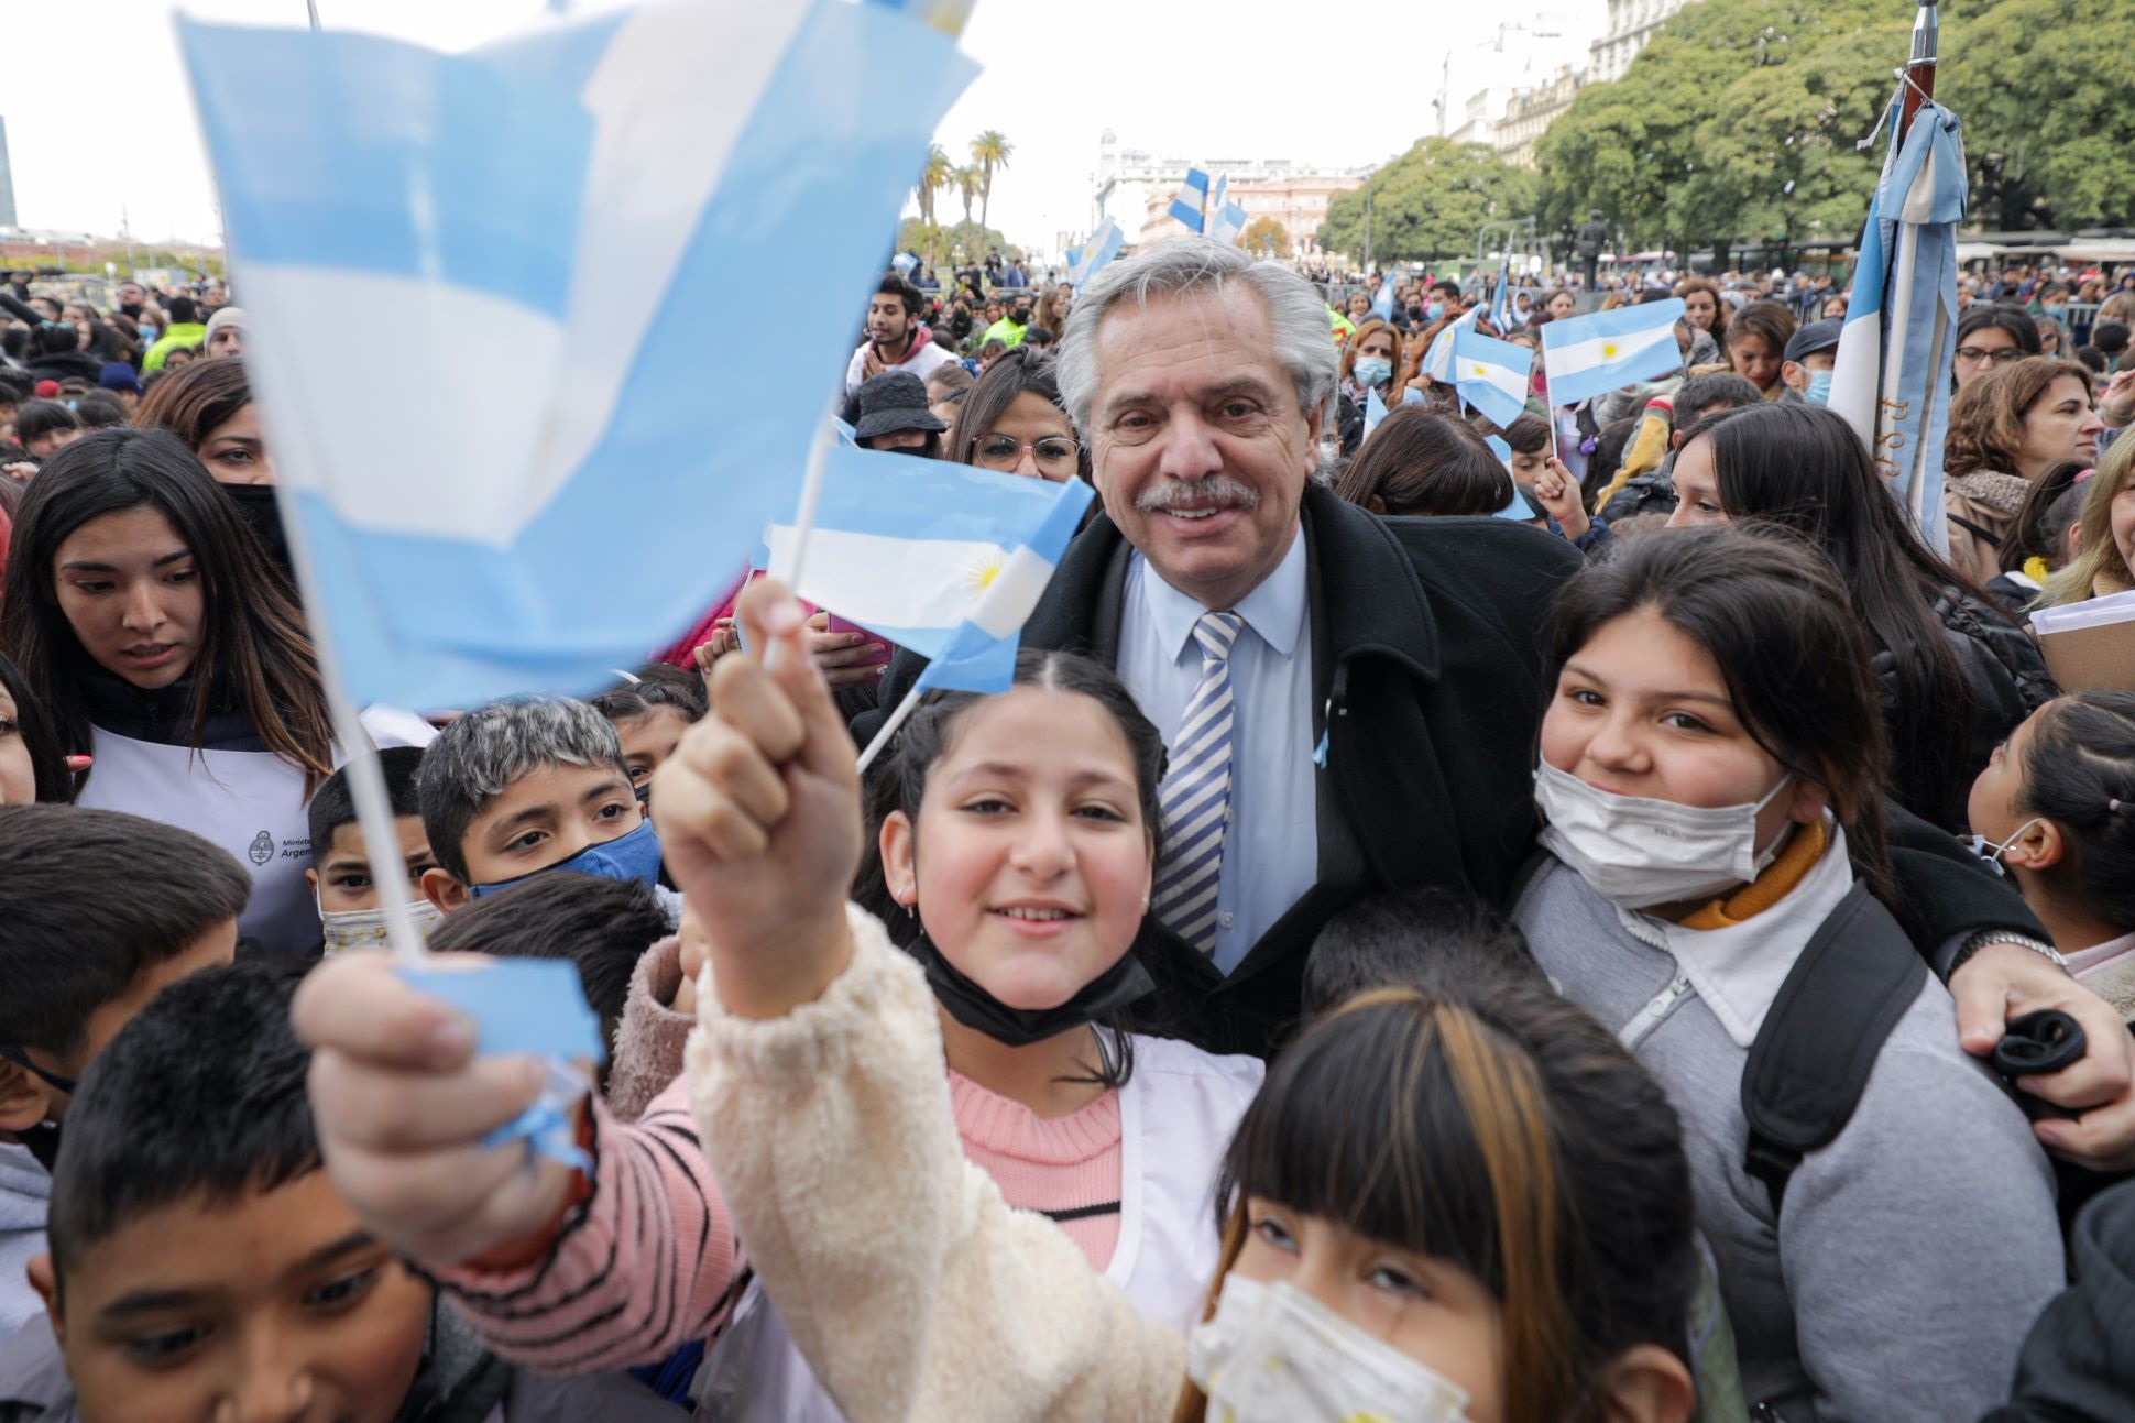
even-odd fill
[{"label": "bright white overcast sky above the crowd and buildings", "polygon": [[[171,28],[177,9],[305,24],[303,0],[9,0],[17,11],[9,49],[41,56],[11,64],[0,83],[23,226],[117,233],[124,207],[141,239],[218,233]],[[327,28],[438,49],[493,38],[542,9],[542,0],[318,0]],[[1330,24],[1330,15],[1341,19]],[[1161,154],[1379,162],[1437,132],[1433,100],[1448,56],[1458,107],[1499,66],[1544,47],[1582,49],[1578,41],[1599,34],[1603,15],[1606,0],[1332,13],[1300,0],[980,0],[963,45],[984,73],[937,137],[963,160],[982,128],[1008,135],[1014,156],[995,179],[993,226],[1012,241],[1050,246],[1057,231],[1087,226],[1097,137],[1108,126],[1123,145]],[[1503,21],[1565,38],[1512,30],[1501,41]],[[897,75],[884,75],[880,94],[897,103]],[[946,203],[961,212],[954,197]]]}]

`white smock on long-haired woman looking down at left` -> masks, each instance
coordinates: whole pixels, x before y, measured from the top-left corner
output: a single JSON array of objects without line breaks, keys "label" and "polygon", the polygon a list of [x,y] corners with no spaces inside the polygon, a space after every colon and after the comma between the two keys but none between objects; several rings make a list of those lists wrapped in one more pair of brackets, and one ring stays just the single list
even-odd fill
[{"label": "white smock on long-haired woman looking down at left", "polygon": [[[410,746],[416,741],[399,724],[404,716],[371,707],[363,724],[378,746]],[[162,820],[222,846],[252,872],[252,897],[237,917],[239,938],[258,940],[267,953],[301,953],[318,944],[318,906],[303,878],[312,867],[303,771],[273,752],[137,741],[102,726],[90,726],[90,733],[96,761],[77,806]],[[344,761],[335,746],[333,765]]]}]

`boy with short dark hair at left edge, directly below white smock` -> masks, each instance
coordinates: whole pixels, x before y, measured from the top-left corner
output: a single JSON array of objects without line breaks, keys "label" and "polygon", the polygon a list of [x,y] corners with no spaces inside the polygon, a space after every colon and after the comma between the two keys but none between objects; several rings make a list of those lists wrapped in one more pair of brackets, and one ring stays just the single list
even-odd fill
[{"label": "boy with short dark hair at left edge, directly below white smock", "polygon": [[0,1340],[38,1308],[21,1267],[45,1248],[77,1079],[160,989],[231,961],[250,895],[235,859],[175,825],[0,806]]}]

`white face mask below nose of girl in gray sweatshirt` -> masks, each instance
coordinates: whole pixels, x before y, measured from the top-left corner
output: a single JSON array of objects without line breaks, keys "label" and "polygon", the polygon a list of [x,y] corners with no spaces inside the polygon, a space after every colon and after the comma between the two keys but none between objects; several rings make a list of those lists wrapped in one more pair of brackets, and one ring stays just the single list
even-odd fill
[{"label": "white face mask below nose of girl in gray sweatshirt", "polygon": [[1778,838],[1757,853],[1757,816],[1791,780],[1783,776],[1755,806],[1678,806],[1595,791],[1544,761],[1535,767],[1535,808],[1550,823],[1541,844],[1620,908],[1706,900],[1778,857]]}]

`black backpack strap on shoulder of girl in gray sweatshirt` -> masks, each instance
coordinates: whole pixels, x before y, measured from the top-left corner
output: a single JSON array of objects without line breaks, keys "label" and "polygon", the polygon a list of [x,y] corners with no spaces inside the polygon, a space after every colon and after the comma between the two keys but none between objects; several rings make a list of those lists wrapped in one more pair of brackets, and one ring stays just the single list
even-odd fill
[{"label": "black backpack strap on shoulder of girl in gray sweatshirt", "polygon": [[1802,1158],[1853,1120],[1883,1041],[1926,976],[1926,959],[1866,885],[1793,961],[1742,1068],[1742,1167],[1764,1182],[1774,1216]]}]

